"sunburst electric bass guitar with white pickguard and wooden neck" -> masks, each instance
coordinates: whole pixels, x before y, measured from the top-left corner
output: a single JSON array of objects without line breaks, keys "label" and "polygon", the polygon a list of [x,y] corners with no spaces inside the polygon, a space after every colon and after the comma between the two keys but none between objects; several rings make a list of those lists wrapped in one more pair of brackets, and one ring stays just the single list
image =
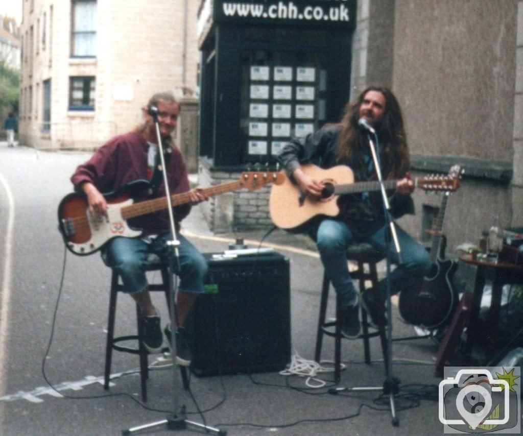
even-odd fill
[{"label": "sunburst electric bass guitar with white pickguard and wooden neck", "polygon": [[[269,183],[283,183],[284,176],[278,172],[253,171],[242,173],[236,181],[203,188],[201,192],[212,197],[242,188],[254,191]],[[107,201],[107,217],[92,216],[88,211],[84,193],[73,192],[65,196],[58,206],[58,228],[66,247],[76,255],[90,255],[116,236],[138,237],[139,229],[132,228],[128,220],[137,216],[167,209],[167,197],[134,203],[135,194],[146,191],[150,183],[137,180],[127,186],[104,194]],[[173,206],[190,203],[189,192],[170,197]]]}]

